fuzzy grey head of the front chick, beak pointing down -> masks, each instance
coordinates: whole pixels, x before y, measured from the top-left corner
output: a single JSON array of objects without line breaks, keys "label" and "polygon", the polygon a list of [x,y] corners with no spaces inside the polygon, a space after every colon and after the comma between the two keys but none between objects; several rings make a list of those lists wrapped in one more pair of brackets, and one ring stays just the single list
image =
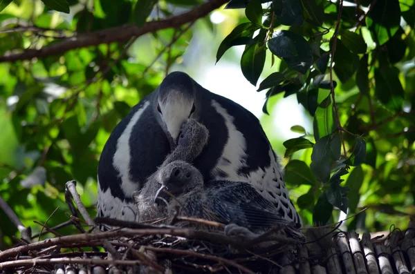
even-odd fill
[{"label": "fuzzy grey head of the front chick, beak pointing down", "polygon": [[174,161],[161,168],[158,171],[157,180],[161,187],[157,190],[154,201],[164,191],[176,196],[203,188],[203,176],[199,170],[183,161]]}]

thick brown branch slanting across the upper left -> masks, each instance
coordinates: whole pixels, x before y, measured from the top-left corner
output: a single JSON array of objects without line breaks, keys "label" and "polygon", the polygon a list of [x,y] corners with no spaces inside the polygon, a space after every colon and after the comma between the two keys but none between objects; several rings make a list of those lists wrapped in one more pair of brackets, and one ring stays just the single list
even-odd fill
[{"label": "thick brown branch slanting across the upper left", "polygon": [[63,41],[53,43],[39,50],[24,50],[24,52],[12,53],[0,57],[0,62],[28,60],[33,58],[44,58],[52,55],[62,55],[68,50],[76,48],[85,48],[88,46],[98,46],[101,43],[122,42],[132,37],[140,37],[150,32],[156,32],[165,28],[178,28],[185,23],[190,23],[208,15],[212,10],[220,8],[228,0],[210,0],[207,3],[185,12],[183,14],[169,17],[160,21],[151,21],[145,23],[142,28],[135,25],[124,25],[107,30],[99,30],[97,32],[85,33],[64,39]]}]

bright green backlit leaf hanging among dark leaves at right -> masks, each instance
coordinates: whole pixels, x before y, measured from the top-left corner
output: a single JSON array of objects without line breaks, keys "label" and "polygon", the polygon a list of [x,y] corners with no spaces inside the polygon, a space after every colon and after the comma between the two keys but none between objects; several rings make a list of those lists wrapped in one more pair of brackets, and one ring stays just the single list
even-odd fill
[{"label": "bright green backlit leaf hanging among dark leaves at right", "polygon": [[314,114],[314,138],[320,139],[326,135],[330,135],[336,128],[334,120],[333,104],[331,104],[330,95],[326,100],[322,101]]}]

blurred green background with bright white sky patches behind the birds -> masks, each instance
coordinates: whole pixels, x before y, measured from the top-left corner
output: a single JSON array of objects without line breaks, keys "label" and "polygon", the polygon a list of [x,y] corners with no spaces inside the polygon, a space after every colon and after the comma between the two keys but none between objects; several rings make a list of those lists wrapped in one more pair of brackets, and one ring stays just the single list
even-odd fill
[{"label": "blurred green background with bright white sky patches behind the birds", "polygon": [[[0,12],[0,55],[21,49],[40,49],[67,37],[124,23],[138,24],[138,3],[136,0],[70,0],[70,12],[65,14],[48,8],[39,0],[12,1]],[[349,155],[356,136],[364,137],[367,144],[365,162],[352,166],[351,173],[342,177],[341,185],[349,186],[349,203],[353,206],[349,206],[348,214],[335,208],[330,222],[338,222],[367,206],[370,208],[343,224],[344,230],[387,231],[391,224],[404,229],[409,216],[415,214],[415,35],[414,24],[410,21],[415,17],[415,9],[414,1],[399,3],[400,12],[409,15],[405,13],[408,21],[401,24],[398,35],[390,39],[394,44],[376,45],[368,28],[358,27],[372,60],[368,80],[372,97],[362,96],[356,85],[356,75],[347,81],[339,81],[334,75],[338,83],[335,97],[340,122],[352,133],[344,133]],[[195,0],[158,1],[149,18],[144,19],[151,21],[180,14],[198,4]],[[330,10],[330,5],[324,7],[327,15],[324,26],[329,28],[330,20],[335,19],[337,13]],[[362,10],[366,12],[367,8]],[[266,12],[264,10],[264,14]],[[347,20],[342,23],[346,24]],[[350,20],[356,23],[357,19]],[[244,9],[221,8],[181,28],[159,30],[131,40],[126,55],[123,53],[128,43],[111,43],[70,50],[61,56],[0,63],[1,197],[35,234],[41,226],[33,221],[45,222],[57,207],[59,209],[50,217],[48,226],[68,219],[64,184],[75,179],[82,201],[95,216],[98,159],[111,130],[127,115],[131,106],[153,91],[167,72],[174,70],[187,72],[205,88],[233,99],[253,112],[261,120],[279,155],[286,153],[283,143],[287,139],[304,137],[314,141],[314,117],[298,103],[301,90],[297,90],[297,98],[288,96],[287,91],[269,97],[268,90],[257,92],[257,88],[245,79],[240,61],[246,46],[233,46],[215,63],[223,39],[243,22],[248,22]],[[278,28],[288,29],[286,26]],[[302,35],[307,37],[306,33]],[[333,29],[326,35],[332,36]],[[329,39],[327,37],[320,48],[327,50]],[[398,111],[391,110],[376,97],[379,96],[376,85],[381,81],[374,81],[374,70],[381,66],[380,56],[383,55],[388,66],[396,68],[398,84],[396,81],[394,84],[405,92],[402,109]],[[360,57],[362,59],[362,55]],[[258,83],[272,72],[282,71],[282,66],[286,65],[281,59],[268,52]],[[301,75],[297,76],[304,86],[311,86],[305,80],[307,77],[305,75],[303,81]],[[317,88],[315,104],[320,104],[329,92]],[[269,115],[263,112],[264,104]],[[302,128],[292,128],[297,125]],[[313,148],[299,150],[282,157],[282,162],[285,166],[301,160],[309,166],[312,152]],[[335,168],[336,163],[332,162],[331,168]],[[42,175],[33,173],[37,166],[46,169],[46,182]],[[327,188],[325,182],[315,179],[309,168],[300,169],[299,175],[304,175],[306,180],[311,178],[315,183],[295,181],[298,174],[293,173],[294,164],[292,167],[287,170],[287,186],[304,225],[311,225],[317,199]],[[26,187],[22,186],[22,180]],[[67,228],[60,232],[73,231]],[[12,244],[12,235],[19,235],[1,211],[0,233],[0,249]]]}]

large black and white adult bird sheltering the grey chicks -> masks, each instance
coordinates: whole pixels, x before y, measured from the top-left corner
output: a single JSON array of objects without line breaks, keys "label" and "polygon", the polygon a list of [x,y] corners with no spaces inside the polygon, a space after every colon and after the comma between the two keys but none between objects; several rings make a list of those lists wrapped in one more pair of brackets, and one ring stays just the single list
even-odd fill
[{"label": "large black and white adult bird sheltering the grey chicks", "polygon": [[301,224],[284,184],[282,167],[259,120],[184,72],[172,72],[131,109],[111,133],[98,166],[98,216],[134,221],[133,192],[163,164],[187,119],[209,131],[194,166],[205,182],[246,182],[283,219]]}]

